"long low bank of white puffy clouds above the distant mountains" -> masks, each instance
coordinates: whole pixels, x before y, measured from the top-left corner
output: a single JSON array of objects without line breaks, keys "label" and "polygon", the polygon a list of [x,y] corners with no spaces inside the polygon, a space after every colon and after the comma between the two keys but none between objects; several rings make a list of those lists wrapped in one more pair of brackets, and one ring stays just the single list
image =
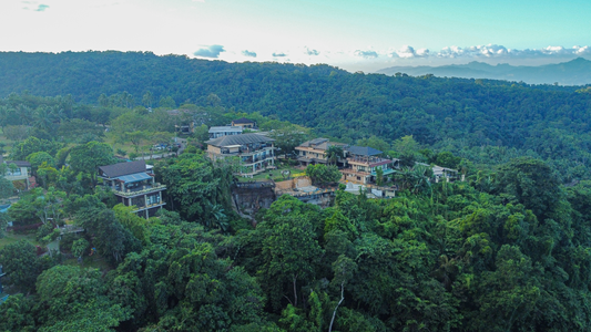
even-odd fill
[{"label": "long low bank of white puffy clouds above the distant mountains", "polygon": [[536,59],[536,58],[569,58],[569,56],[590,56],[590,46],[548,46],[543,49],[508,49],[503,45],[488,44],[468,48],[449,46],[439,52],[430,52],[427,49],[415,50],[411,46],[403,46],[400,50],[389,51],[390,58],[416,59],[416,58],[439,58],[439,59]]}]

